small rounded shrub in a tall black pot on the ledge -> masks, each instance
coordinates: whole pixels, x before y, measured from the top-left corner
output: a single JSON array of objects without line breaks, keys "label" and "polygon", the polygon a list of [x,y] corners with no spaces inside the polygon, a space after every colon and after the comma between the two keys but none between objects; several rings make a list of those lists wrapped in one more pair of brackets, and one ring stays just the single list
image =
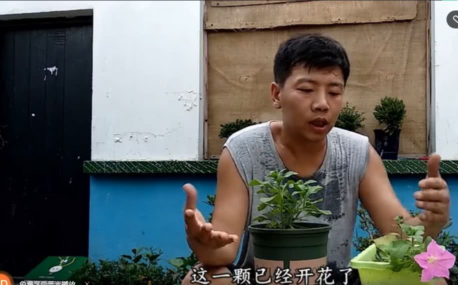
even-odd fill
[{"label": "small rounded shrub in a tall black pot on the ledge", "polygon": [[405,119],[405,104],[393,97],[384,97],[373,111],[375,119],[383,129],[375,129],[375,150],[382,159],[397,159],[399,135]]}]

